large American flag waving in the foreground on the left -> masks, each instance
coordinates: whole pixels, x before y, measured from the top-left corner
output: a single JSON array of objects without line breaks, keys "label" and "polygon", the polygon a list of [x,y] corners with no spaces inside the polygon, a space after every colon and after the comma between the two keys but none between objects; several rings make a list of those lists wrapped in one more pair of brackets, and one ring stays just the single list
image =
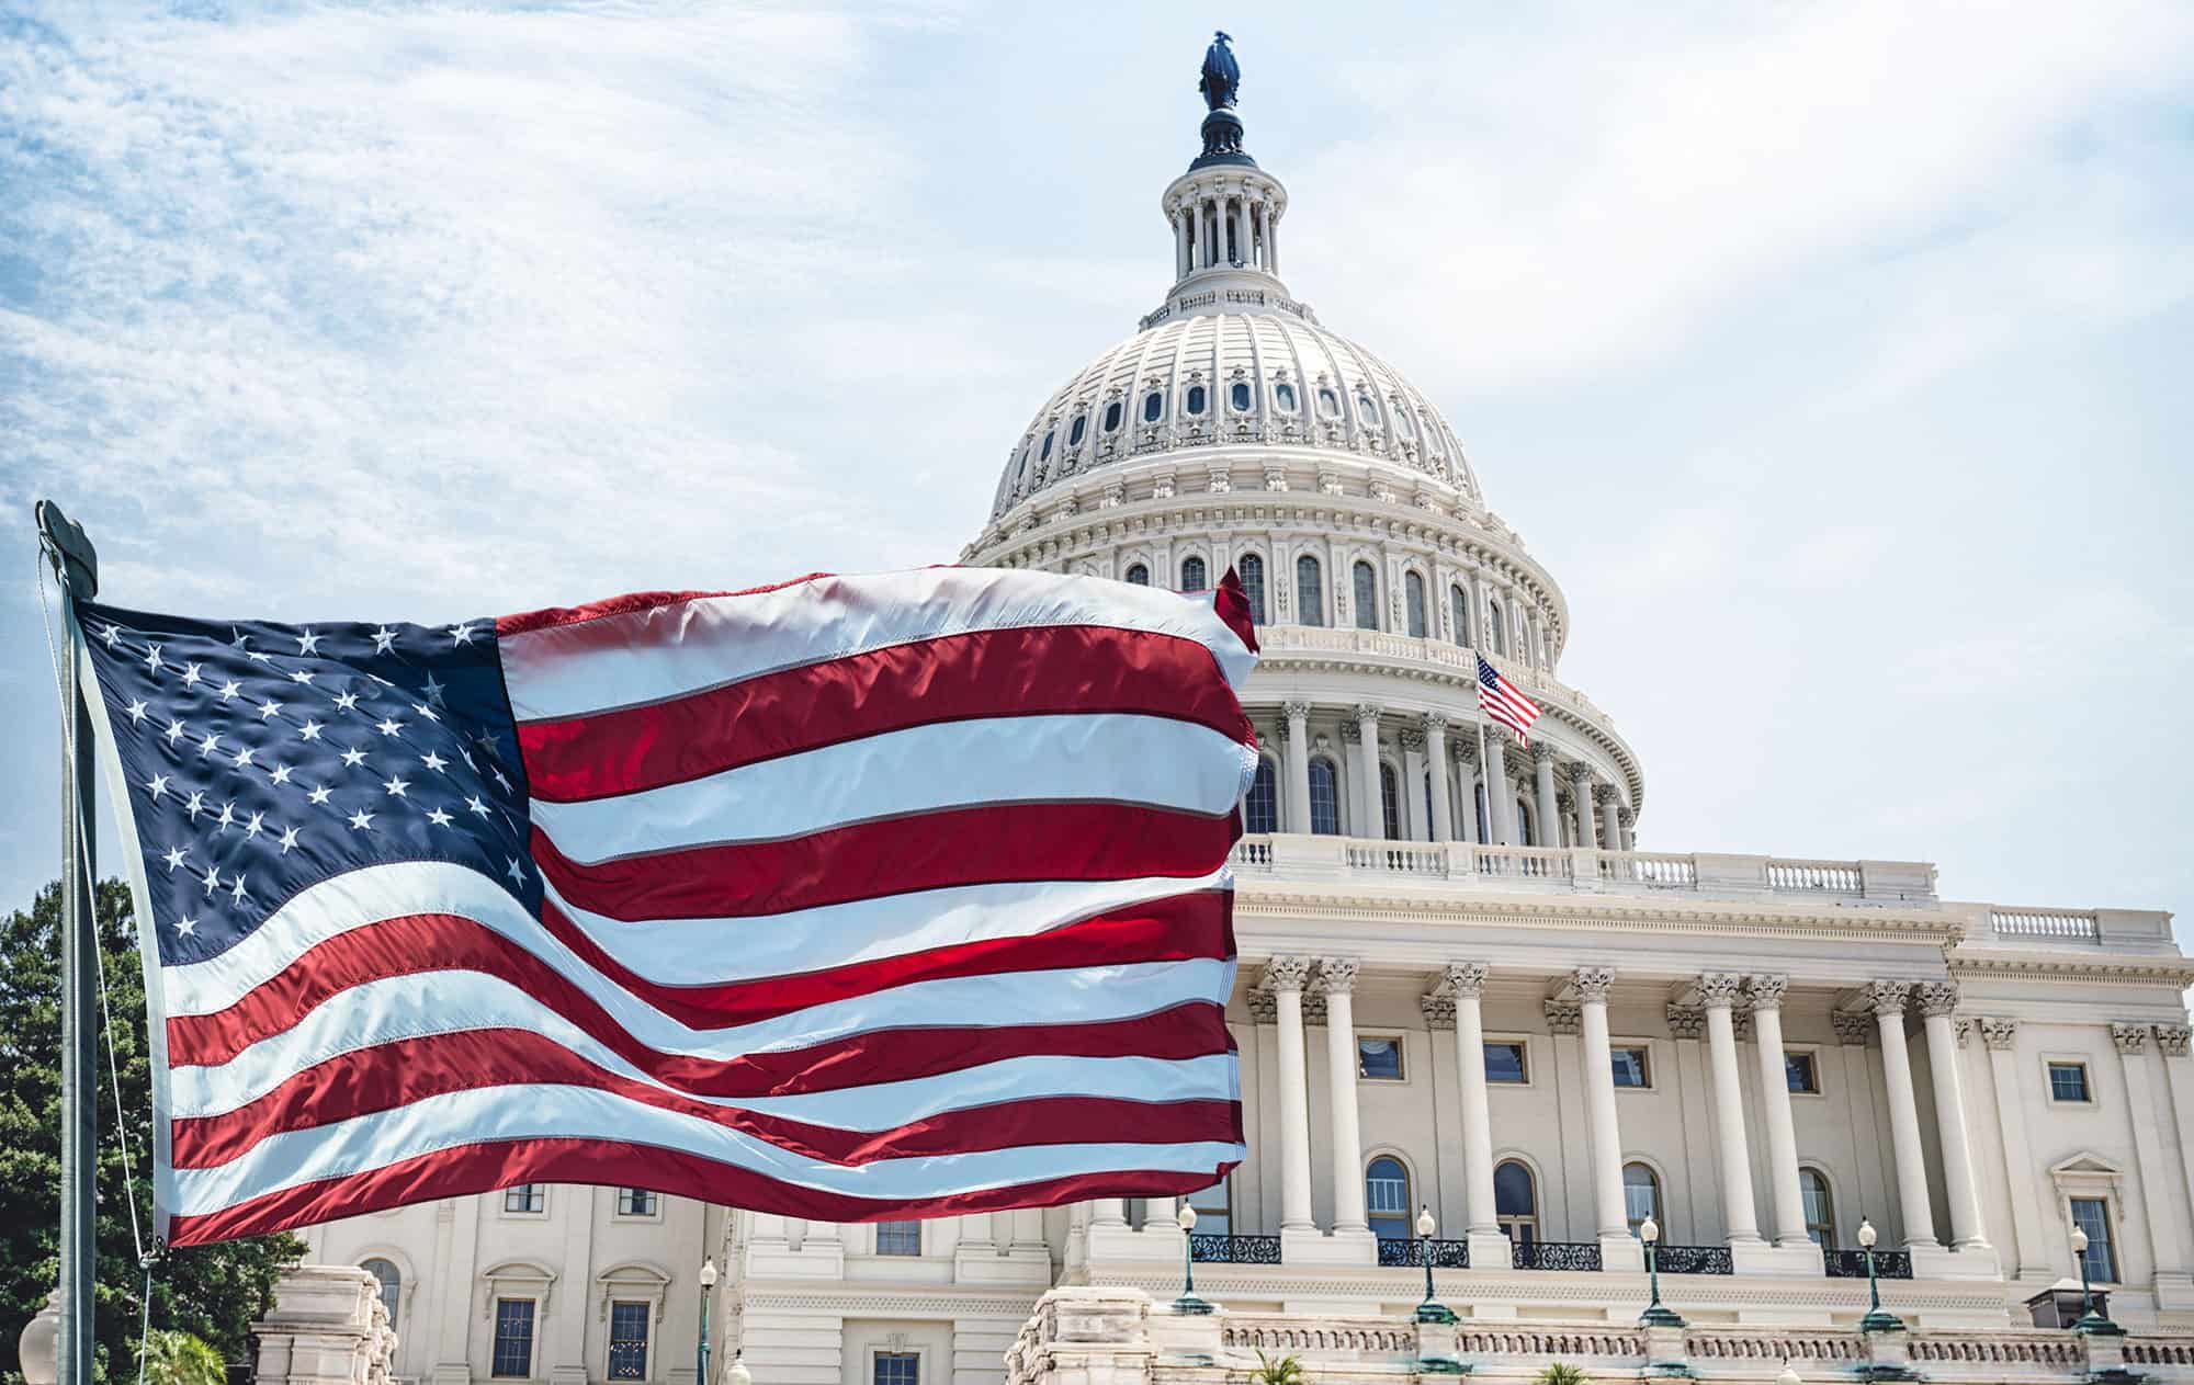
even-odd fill
[{"label": "large American flag waving in the foreground on the left", "polygon": [[77,605],[173,1245],[529,1181],[873,1221],[1237,1164],[1237,583]]}]

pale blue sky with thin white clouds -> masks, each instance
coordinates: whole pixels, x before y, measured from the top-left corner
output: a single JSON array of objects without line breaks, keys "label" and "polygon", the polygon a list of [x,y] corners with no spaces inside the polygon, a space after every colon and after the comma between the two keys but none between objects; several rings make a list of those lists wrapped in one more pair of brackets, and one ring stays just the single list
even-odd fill
[{"label": "pale blue sky with thin white clouds", "polygon": [[2170,0],[0,0],[0,907],[57,872],[35,497],[202,616],[954,561],[1165,296],[1213,26],[1290,289],[1562,583],[1643,846],[2194,947]]}]

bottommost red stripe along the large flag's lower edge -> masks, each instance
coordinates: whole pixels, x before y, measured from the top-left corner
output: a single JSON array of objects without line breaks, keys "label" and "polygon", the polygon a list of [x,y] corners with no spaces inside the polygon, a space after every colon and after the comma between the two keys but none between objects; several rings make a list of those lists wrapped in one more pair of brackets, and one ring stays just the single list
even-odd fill
[{"label": "bottommost red stripe along the large flag's lower edge", "polygon": [[814,1221],[891,1221],[902,1216],[952,1216],[961,1212],[1005,1212],[1049,1207],[1093,1197],[1180,1197],[1209,1188],[1231,1170],[1174,1172],[1163,1168],[1110,1170],[1040,1179],[976,1192],[917,1201],[886,1201],[823,1192],[733,1168],[682,1151],[603,1140],[507,1140],[465,1144],[419,1155],[371,1172],[268,1192],[219,1212],[176,1216],[171,1245],[206,1245],[233,1236],[263,1236],[290,1227],[384,1212],[472,1192],[494,1192],[511,1183],[614,1183],[652,1188],[669,1197],[691,1197],[733,1207],[770,1207],[783,1216]]}]

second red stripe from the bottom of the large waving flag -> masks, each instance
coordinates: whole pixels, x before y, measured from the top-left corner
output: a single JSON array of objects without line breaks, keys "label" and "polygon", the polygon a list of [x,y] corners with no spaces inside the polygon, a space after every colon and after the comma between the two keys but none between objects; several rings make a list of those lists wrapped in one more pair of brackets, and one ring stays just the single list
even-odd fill
[{"label": "second red stripe from the bottom of the large waving flag", "polygon": [[796,1155],[840,1166],[1038,1144],[1189,1144],[1242,1137],[1237,1102],[1141,1102],[1071,1094],[1007,1098],[878,1131],[840,1129],[663,1091],[606,1072],[531,1030],[465,1030],[338,1054],[298,1072],[246,1107],[178,1120],[173,1159],[176,1168],[215,1168],[268,1135],[391,1111],[452,1091],[527,1085],[610,1091],[647,1107],[746,1131]]}]

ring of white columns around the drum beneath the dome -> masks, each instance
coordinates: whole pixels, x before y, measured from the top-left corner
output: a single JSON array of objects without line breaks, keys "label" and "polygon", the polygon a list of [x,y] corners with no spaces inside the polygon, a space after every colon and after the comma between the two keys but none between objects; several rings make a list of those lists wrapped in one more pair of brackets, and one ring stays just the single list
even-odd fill
[{"label": "ring of white columns around the drum beneath the dome", "polygon": [[[1321,714],[1321,708],[1310,701],[1288,701],[1281,706],[1281,721],[1275,728],[1281,745],[1279,828],[1286,833],[1312,831],[1312,756],[1341,765],[1332,741],[1312,732],[1314,714]],[[1525,789],[1509,778],[1509,754],[1516,754],[1518,747],[1507,728],[1492,723],[1481,736],[1474,721],[1450,725],[1444,712],[1395,717],[1376,703],[1354,703],[1323,712],[1323,717],[1334,717],[1341,741],[1347,745],[1349,789],[1345,795],[1336,791],[1336,806],[1345,804],[1341,822],[1345,835],[1384,835],[1380,734],[1382,728],[1400,721],[1398,758],[1406,771],[1402,785],[1404,835],[1420,842],[1477,842],[1483,835],[1494,846],[1523,844],[1516,798]],[[1450,739],[1450,730],[1459,734]],[[1483,771],[1479,767],[1481,741],[1485,747]],[[1520,754],[1531,767],[1527,785],[1536,795],[1538,846],[1560,844],[1567,822],[1575,833],[1575,846],[1637,850],[1635,813],[1624,804],[1621,789],[1599,778],[1593,765],[1564,758],[1547,741],[1534,741]],[[1430,822],[1415,822],[1420,765],[1430,776]],[[1569,785],[1567,795],[1562,782]],[[1485,789],[1483,822],[1479,820],[1481,787]],[[1455,789],[1461,791],[1455,793]]]}]

